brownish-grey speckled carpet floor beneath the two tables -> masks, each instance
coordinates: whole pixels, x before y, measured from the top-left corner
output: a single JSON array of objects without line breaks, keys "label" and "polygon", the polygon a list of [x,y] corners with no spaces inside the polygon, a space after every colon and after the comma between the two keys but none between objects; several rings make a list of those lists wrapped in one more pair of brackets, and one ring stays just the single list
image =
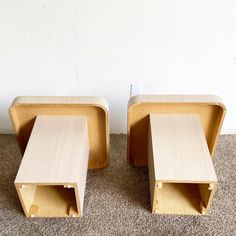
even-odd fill
[{"label": "brownish-grey speckled carpet floor beneath the two tables", "polygon": [[147,169],[127,164],[125,135],[111,135],[110,166],[89,171],[81,219],[25,218],[13,185],[20,161],[15,137],[0,135],[0,235],[236,235],[236,135],[220,137],[207,216],[152,215]]}]

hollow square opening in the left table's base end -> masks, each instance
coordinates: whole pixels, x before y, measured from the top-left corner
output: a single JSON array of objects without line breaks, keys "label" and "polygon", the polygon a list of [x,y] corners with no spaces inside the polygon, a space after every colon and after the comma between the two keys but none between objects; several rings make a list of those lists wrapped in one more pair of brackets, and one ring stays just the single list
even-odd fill
[{"label": "hollow square opening in the left table's base end", "polygon": [[79,217],[73,186],[25,184],[17,189],[28,217]]}]

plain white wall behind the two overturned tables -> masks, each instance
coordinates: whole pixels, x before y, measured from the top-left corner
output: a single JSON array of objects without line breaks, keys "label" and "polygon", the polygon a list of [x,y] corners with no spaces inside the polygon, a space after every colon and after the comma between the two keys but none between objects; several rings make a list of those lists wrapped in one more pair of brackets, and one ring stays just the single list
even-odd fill
[{"label": "plain white wall behind the two overturned tables", "polygon": [[126,132],[130,83],[218,94],[236,133],[236,0],[0,0],[0,131],[18,95],[100,95]]}]

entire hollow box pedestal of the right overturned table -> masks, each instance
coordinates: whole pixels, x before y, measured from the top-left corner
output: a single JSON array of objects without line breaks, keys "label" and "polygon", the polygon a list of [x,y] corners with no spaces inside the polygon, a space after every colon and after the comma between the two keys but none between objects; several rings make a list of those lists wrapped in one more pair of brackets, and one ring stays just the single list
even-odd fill
[{"label": "entire hollow box pedestal of the right overturned table", "polygon": [[217,178],[199,116],[150,114],[148,137],[152,212],[206,214]]}]

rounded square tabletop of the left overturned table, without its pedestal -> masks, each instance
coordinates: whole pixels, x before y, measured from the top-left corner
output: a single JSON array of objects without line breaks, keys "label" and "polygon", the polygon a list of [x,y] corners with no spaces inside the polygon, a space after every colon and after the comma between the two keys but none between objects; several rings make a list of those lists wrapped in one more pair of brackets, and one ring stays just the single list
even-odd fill
[{"label": "rounded square tabletop of the left overturned table, without its pedestal", "polygon": [[86,116],[89,131],[89,168],[103,168],[109,163],[108,104],[100,97],[17,97],[9,114],[22,155],[36,116]]}]

